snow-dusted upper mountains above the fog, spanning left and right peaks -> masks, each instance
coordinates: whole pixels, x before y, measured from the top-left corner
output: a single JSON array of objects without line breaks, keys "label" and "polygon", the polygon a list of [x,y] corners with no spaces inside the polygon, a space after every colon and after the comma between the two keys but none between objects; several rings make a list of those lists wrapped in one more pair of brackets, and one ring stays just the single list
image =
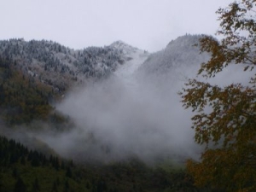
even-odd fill
[{"label": "snow-dusted upper mountains above the fog, spanning left and right peaks", "polygon": [[73,84],[106,78],[113,72],[130,83],[130,76],[134,73],[148,78],[173,76],[169,74],[173,72],[179,77],[186,76],[186,69],[208,58],[206,54],[199,55],[199,48],[194,46],[199,38],[200,35],[177,38],[166,49],[151,55],[122,41],[75,50],[52,41],[26,42],[20,38],[0,41],[0,56],[15,61],[15,67],[25,75],[64,92]]}]

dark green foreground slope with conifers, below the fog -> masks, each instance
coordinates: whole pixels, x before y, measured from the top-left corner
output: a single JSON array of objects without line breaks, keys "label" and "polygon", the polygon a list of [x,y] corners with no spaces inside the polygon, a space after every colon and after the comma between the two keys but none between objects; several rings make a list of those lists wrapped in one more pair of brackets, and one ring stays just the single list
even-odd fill
[{"label": "dark green foreground slope with conifers, below the fog", "polygon": [[[21,163],[21,160],[26,163]],[[183,170],[149,167],[139,160],[73,165],[0,137],[0,191],[199,191]]]}]

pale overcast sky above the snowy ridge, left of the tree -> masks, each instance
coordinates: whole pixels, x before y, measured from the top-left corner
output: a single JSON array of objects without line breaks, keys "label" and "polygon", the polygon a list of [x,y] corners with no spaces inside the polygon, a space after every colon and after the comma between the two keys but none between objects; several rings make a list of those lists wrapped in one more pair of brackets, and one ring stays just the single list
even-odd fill
[{"label": "pale overcast sky above the snowy ridge, left of the tree", "polygon": [[2,0],[0,38],[53,40],[73,49],[125,41],[150,52],[186,33],[214,34],[232,0]]}]

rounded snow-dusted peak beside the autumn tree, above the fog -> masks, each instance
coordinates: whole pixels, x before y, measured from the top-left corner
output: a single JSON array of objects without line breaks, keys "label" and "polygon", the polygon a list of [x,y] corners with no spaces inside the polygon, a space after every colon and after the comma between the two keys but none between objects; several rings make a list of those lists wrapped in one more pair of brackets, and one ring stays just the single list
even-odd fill
[{"label": "rounded snow-dusted peak beside the autumn tree, above the fog", "polygon": [[199,44],[201,35],[186,35],[172,40],[162,49],[149,55],[142,67],[140,75],[146,76],[172,76],[172,79],[186,79],[195,74],[203,61],[209,59],[207,53],[200,54]]}]

